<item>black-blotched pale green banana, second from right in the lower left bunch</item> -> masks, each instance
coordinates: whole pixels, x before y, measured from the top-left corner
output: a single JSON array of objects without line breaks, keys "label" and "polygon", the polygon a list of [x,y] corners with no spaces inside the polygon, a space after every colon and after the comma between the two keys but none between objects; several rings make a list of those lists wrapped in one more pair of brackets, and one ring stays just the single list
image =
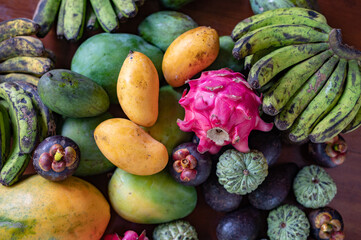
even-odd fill
[{"label": "black-blotched pale green banana, second from right in the lower left bunch", "polygon": [[9,104],[13,141],[18,142],[20,153],[31,153],[37,139],[37,116],[31,99],[11,82],[0,84],[0,98]]}]

